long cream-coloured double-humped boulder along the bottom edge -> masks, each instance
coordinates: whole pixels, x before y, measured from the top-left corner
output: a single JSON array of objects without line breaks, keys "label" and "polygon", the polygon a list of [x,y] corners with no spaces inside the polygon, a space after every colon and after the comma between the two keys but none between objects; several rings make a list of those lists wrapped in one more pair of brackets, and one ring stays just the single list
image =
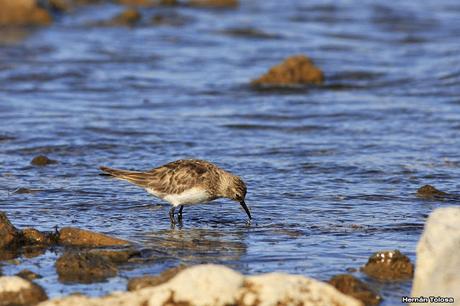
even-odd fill
[{"label": "long cream-coloured double-humped boulder along the bottom edge", "polygon": [[185,269],[156,287],[102,298],[71,296],[40,306],[252,306],[310,305],[362,306],[329,284],[307,277],[269,273],[244,277],[225,266],[199,265]]}]

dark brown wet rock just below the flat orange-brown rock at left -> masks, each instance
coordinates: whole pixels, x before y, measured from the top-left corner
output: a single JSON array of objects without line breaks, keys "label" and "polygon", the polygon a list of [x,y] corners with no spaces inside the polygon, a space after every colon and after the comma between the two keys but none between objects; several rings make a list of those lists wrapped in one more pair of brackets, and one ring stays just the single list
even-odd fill
[{"label": "dark brown wet rock just below the flat orange-brown rock at left", "polygon": [[64,253],[56,261],[61,282],[94,283],[116,276],[118,269],[107,257],[89,252]]}]

